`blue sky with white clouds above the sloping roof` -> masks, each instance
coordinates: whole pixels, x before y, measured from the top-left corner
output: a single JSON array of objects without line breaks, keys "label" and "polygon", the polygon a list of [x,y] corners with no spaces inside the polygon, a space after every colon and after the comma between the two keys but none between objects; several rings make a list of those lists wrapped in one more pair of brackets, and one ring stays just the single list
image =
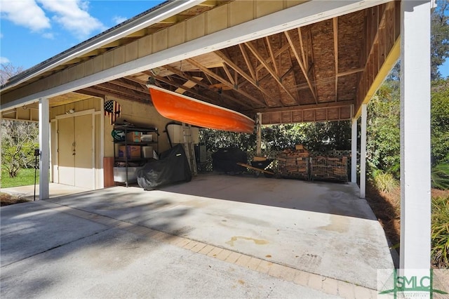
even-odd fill
[{"label": "blue sky with white clouds above the sloping roof", "polygon": [[0,0],[0,63],[28,69],[162,2]]}]

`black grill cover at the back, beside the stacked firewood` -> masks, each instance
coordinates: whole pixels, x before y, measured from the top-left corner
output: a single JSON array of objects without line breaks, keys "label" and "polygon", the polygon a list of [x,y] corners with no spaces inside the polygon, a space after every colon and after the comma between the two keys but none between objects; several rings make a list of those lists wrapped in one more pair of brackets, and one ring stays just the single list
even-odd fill
[{"label": "black grill cover at the back, beside the stacked firewood", "polygon": [[236,147],[225,147],[212,154],[212,166],[214,171],[225,173],[241,173],[246,167],[237,165],[237,162],[248,163],[246,152]]}]

